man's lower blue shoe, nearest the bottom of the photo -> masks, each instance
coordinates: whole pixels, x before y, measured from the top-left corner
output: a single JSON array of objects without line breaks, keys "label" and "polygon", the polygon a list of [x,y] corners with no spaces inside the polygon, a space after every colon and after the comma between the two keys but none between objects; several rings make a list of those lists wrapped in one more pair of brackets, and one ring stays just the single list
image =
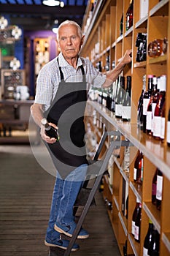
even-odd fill
[{"label": "man's lower blue shoe, nearest the bottom of the photo", "polygon": [[[48,238],[45,238],[45,245],[46,246],[52,246],[52,247],[59,247],[61,249],[67,249],[69,246],[69,240],[64,240],[64,239],[56,239],[55,241],[51,241]],[[72,246],[72,252],[77,251],[80,248],[78,244],[74,244]]]}]

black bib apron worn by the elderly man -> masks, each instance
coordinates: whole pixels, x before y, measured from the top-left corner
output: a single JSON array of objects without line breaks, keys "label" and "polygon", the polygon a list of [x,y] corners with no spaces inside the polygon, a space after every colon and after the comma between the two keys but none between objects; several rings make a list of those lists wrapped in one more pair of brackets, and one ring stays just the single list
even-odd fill
[{"label": "black bib apron worn by the elderly man", "polygon": [[82,164],[88,164],[85,149],[84,113],[87,102],[85,71],[82,66],[82,82],[66,83],[59,67],[61,82],[55,99],[45,112],[47,121],[58,126],[60,140],[45,143],[53,163],[62,178]]}]

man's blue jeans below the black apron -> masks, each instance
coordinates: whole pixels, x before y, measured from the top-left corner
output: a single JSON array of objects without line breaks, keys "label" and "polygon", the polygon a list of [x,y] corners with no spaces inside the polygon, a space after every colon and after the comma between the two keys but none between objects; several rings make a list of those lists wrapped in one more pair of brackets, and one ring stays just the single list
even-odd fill
[{"label": "man's blue jeans below the black apron", "polygon": [[87,169],[88,165],[80,165],[64,180],[59,173],[57,174],[46,234],[51,241],[60,238],[60,233],[54,230],[55,222],[61,225],[71,225],[74,222],[73,206],[85,180]]}]

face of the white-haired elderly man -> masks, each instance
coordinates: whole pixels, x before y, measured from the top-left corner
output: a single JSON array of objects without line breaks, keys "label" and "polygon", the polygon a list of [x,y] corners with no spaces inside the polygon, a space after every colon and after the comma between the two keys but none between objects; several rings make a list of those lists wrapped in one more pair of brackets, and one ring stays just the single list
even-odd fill
[{"label": "face of the white-haired elderly man", "polygon": [[64,25],[58,33],[58,44],[65,59],[77,57],[83,42],[74,25]]}]

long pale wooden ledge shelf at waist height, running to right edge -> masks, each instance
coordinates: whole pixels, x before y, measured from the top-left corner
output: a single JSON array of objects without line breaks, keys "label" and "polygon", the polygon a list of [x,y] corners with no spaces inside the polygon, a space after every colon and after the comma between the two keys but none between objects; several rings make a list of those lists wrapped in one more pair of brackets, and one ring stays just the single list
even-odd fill
[{"label": "long pale wooden ledge shelf at waist height, running to right edge", "polygon": [[163,174],[170,180],[170,148],[142,133],[137,129],[137,124],[117,120],[107,108],[99,103],[89,101],[88,104],[130,140],[136,148],[139,148],[156,167],[161,166]]}]

